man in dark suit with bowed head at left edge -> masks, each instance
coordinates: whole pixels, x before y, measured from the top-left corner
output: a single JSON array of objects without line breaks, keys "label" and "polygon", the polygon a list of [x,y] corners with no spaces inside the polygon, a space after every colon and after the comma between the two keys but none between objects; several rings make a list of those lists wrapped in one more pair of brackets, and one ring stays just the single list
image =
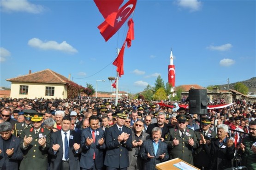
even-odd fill
[{"label": "man in dark suit with bowed head at left edge", "polygon": [[19,147],[20,138],[12,135],[12,124],[0,124],[0,170],[18,170],[18,162],[23,158]]}]

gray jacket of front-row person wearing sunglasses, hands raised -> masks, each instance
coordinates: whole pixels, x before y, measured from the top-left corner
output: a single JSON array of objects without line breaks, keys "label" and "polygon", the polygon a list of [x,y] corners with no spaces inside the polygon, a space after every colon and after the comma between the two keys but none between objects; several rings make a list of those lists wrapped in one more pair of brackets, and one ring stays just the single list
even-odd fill
[{"label": "gray jacket of front-row person wearing sunglasses, hands raised", "polygon": [[[149,134],[147,134],[146,132],[142,132],[142,138],[141,138],[142,141],[145,141],[145,140],[149,139],[149,137],[150,137]],[[131,141],[134,141],[134,140],[135,140],[135,132],[134,132],[134,130],[132,130],[131,131]],[[138,153],[140,152],[140,148],[141,147],[132,147],[132,150],[129,151],[129,162],[130,162],[130,164],[131,164],[131,159],[134,157],[137,149],[138,149]],[[143,169],[143,164],[141,164],[141,163],[142,163],[141,158],[137,157],[137,165],[138,165],[139,170]]]}]

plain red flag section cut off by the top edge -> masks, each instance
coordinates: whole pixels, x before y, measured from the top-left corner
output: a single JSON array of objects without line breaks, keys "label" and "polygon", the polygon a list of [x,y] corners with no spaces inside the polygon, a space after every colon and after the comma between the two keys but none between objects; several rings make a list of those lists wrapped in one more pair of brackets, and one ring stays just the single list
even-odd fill
[{"label": "plain red flag section cut off by the top edge", "polygon": [[94,2],[105,18],[105,21],[113,27],[119,6],[124,0],[94,0]]}]

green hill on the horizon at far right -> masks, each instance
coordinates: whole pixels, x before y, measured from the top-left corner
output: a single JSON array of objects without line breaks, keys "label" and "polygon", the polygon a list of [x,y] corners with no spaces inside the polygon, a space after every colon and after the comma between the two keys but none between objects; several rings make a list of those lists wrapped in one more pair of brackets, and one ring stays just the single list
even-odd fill
[{"label": "green hill on the horizon at far right", "polygon": [[[229,88],[235,89],[234,86],[236,83],[237,82],[229,84]],[[256,77],[253,77],[249,80],[242,81],[241,83],[243,83],[246,87],[249,88],[249,93],[256,94]],[[227,89],[227,84],[218,85],[218,86],[220,87],[220,90],[225,90],[224,87],[226,87],[226,89]]]}]

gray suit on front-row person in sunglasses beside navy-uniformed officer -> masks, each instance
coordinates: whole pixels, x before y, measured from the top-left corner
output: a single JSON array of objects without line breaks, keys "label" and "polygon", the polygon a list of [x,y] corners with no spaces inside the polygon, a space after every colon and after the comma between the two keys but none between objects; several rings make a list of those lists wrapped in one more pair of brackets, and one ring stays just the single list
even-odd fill
[{"label": "gray suit on front-row person in sunglasses beside navy-uniformed officer", "polygon": [[[142,132],[142,141],[145,141],[147,139],[149,139],[149,134],[147,134],[146,132]],[[134,141],[135,139],[135,132],[134,130],[131,131],[131,141]],[[132,147],[132,150],[129,151],[129,163],[130,166],[128,167],[128,170],[135,170],[135,166],[137,166],[138,170],[142,170],[143,169],[143,160],[141,159],[141,157],[138,157],[138,155],[135,155],[137,149],[140,150],[141,147]],[[137,151],[137,153],[139,153],[140,151]],[[137,165],[136,165],[136,163]]]}]

